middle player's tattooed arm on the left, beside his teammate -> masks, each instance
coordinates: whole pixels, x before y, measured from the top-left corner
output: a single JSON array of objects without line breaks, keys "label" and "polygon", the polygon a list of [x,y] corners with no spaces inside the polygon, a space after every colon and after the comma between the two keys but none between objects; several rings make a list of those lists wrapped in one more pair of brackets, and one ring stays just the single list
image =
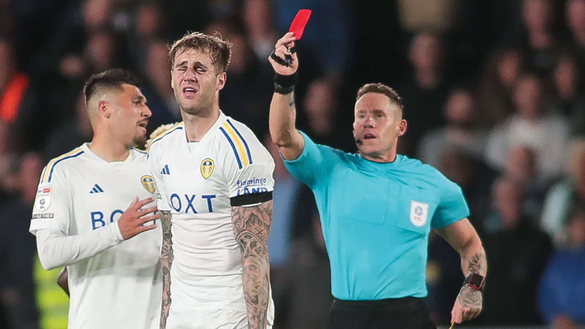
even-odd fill
[{"label": "middle player's tattooed arm on the left, beside his teammate", "polygon": [[171,307],[171,265],[173,265],[173,241],[171,238],[171,212],[160,210],[163,228],[163,245],[160,249],[160,267],[163,272],[163,304],[160,310],[160,329],[167,326],[168,310]]}]

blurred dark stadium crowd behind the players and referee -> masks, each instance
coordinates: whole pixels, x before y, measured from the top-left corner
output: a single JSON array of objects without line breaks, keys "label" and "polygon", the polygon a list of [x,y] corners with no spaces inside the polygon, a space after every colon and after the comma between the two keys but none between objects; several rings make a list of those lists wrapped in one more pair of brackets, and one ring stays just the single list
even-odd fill
[{"label": "blurred dark stadium crowd behind the players and referee", "polygon": [[[355,152],[357,88],[399,92],[400,153],[462,187],[486,246],[484,311],[472,324],[585,323],[585,0],[0,0],[0,327],[66,323],[59,270],[40,268],[28,227],[43,166],[91,140],[84,79],[129,68],[143,77],[149,131],[180,121],[167,44],[187,30],[233,43],[222,111],[276,160],[274,328],[324,327],[332,297],[319,215],[267,133],[267,57],[301,8],[313,15],[298,42],[299,126]],[[429,241],[428,302],[444,324],[463,275],[450,246]]]}]

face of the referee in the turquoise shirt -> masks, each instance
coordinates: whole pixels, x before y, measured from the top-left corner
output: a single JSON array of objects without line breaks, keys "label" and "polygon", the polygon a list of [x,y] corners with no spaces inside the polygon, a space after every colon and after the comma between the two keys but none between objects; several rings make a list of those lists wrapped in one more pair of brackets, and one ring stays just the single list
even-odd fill
[{"label": "face of the referee in the turquoise shirt", "polygon": [[362,155],[378,157],[396,148],[404,135],[406,121],[400,108],[384,94],[368,92],[357,100],[354,109],[353,138]]}]

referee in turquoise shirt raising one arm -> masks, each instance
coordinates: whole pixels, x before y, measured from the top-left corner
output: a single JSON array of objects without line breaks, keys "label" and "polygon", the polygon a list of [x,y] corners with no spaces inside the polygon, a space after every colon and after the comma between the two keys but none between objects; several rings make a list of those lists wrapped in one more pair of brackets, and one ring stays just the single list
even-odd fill
[{"label": "referee in turquoise shirt raising one arm", "polygon": [[452,322],[476,317],[487,262],[462,190],[435,168],[397,155],[407,122],[401,98],[386,85],[357,91],[357,153],[317,145],[297,131],[294,41],[294,33],[284,35],[269,58],[276,71],[270,133],[288,170],[315,194],[335,297],[328,327],[435,328],[422,299],[431,228],[459,252],[466,276]]}]

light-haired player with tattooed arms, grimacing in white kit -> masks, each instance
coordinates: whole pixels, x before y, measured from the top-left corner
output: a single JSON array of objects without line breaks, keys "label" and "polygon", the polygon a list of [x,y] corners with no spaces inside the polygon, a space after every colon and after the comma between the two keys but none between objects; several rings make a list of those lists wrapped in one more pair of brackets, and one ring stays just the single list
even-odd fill
[{"label": "light-haired player with tattooed arms, grimacing in white kit", "polygon": [[230,47],[190,33],[170,50],[183,122],[150,143],[163,227],[160,328],[270,328],[274,161],[219,109]]}]

